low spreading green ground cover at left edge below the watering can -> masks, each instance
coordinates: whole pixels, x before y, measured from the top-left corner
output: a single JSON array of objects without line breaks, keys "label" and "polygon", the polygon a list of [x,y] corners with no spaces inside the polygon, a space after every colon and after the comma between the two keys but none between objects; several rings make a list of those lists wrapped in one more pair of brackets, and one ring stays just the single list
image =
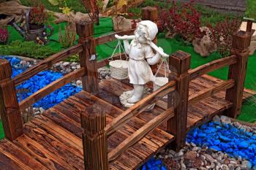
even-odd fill
[{"label": "low spreading green ground cover at left edge below the watering can", "polygon": [[47,46],[35,45],[34,42],[14,41],[10,45],[0,45],[1,55],[19,55],[29,58],[44,59],[56,53]]}]

